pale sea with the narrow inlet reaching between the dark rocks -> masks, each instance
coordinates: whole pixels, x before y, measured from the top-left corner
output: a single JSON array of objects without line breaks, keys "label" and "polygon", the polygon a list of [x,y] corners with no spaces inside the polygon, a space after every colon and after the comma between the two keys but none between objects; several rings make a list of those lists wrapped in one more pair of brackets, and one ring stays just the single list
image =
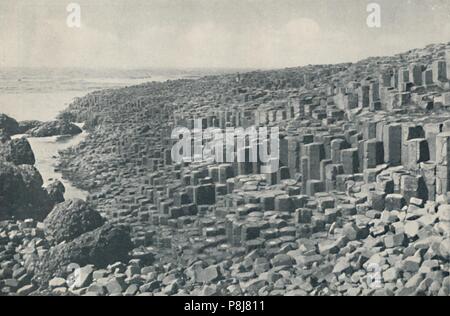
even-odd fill
[{"label": "pale sea with the narrow inlet reaching between the dark rocks", "polygon": [[[146,82],[164,82],[182,78],[197,78],[200,71],[185,70],[89,70],[89,69],[0,69],[0,113],[17,121],[51,121],[74,100],[74,98],[102,89],[120,88]],[[82,126],[82,125],[80,125]],[[33,149],[36,164],[44,180],[61,181],[65,198],[83,199],[88,192],[74,187],[56,169],[58,152],[76,146],[87,136],[86,132],[73,137],[32,138],[28,141]],[[22,137],[17,135],[16,137]]]}]

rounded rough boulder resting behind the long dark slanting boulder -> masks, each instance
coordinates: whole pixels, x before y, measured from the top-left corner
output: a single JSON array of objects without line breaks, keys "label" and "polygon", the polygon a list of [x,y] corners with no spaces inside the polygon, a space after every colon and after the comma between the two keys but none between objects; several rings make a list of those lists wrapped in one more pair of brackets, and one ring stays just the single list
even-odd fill
[{"label": "rounded rough boulder resting behind the long dark slanting boulder", "polygon": [[57,204],[44,221],[46,235],[57,243],[71,241],[103,224],[100,213],[79,199]]}]

